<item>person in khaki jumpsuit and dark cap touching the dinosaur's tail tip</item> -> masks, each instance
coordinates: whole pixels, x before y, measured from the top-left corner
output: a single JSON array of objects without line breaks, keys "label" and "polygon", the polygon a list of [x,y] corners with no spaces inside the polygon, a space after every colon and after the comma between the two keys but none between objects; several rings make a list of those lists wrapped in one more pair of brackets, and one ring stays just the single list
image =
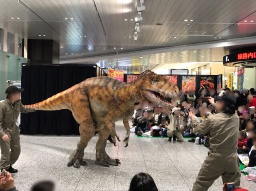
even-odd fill
[{"label": "person in khaki jumpsuit and dark cap touching the dinosaur's tail tip", "polygon": [[[19,113],[28,113],[38,110],[37,108],[26,108],[20,102],[20,92],[16,86],[10,86],[6,89],[7,97],[0,103],[0,148],[1,160],[0,169],[5,169],[10,173],[17,173],[17,169],[11,166],[20,155],[20,132],[16,121]],[[11,149],[11,151],[10,151]]]}]

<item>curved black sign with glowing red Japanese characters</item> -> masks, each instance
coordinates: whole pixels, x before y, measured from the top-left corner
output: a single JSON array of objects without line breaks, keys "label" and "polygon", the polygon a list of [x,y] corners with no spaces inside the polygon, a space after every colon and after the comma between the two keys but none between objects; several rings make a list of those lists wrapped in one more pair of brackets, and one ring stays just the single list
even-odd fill
[{"label": "curved black sign with glowing red Japanese characters", "polygon": [[235,53],[223,57],[223,64],[243,61],[256,61],[256,51]]}]

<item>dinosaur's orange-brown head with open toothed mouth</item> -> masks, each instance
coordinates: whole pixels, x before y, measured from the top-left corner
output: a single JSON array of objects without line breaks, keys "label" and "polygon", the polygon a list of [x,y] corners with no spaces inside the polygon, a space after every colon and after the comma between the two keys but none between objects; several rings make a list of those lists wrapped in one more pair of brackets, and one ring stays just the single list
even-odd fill
[{"label": "dinosaur's orange-brown head with open toothed mouth", "polygon": [[177,85],[171,84],[164,75],[157,75],[149,70],[141,73],[136,81],[143,100],[162,106],[170,106],[171,103],[166,98],[175,97],[179,92]]}]

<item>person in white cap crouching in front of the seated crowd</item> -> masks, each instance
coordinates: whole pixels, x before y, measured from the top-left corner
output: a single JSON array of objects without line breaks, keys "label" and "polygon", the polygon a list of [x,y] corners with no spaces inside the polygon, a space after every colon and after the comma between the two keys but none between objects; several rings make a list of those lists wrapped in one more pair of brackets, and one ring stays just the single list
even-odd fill
[{"label": "person in white cap crouching in front of the seated crowd", "polygon": [[169,137],[168,141],[172,140],[172,136],[176,136],[177,141],[183,142],[183,137],[180,130],[181,117],[180,117],[180,108],[174,107],[172,113],[169,114],[170,124],[168,125],[168,130],[166,132]]}]

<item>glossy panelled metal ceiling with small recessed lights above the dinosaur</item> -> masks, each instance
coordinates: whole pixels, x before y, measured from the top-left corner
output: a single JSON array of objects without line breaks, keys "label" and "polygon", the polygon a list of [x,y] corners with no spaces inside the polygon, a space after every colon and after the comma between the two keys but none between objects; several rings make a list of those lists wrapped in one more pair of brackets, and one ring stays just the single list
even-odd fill
[{"label": "glossy panelled metal ceiling with small recessed lights above the dinosaur", "polygon": [[0,27],[20,37],[56,40],[63,46],[61,60],[256,35],[256,0],[145,0],[134,40],[138,2],[0,0]]}]

